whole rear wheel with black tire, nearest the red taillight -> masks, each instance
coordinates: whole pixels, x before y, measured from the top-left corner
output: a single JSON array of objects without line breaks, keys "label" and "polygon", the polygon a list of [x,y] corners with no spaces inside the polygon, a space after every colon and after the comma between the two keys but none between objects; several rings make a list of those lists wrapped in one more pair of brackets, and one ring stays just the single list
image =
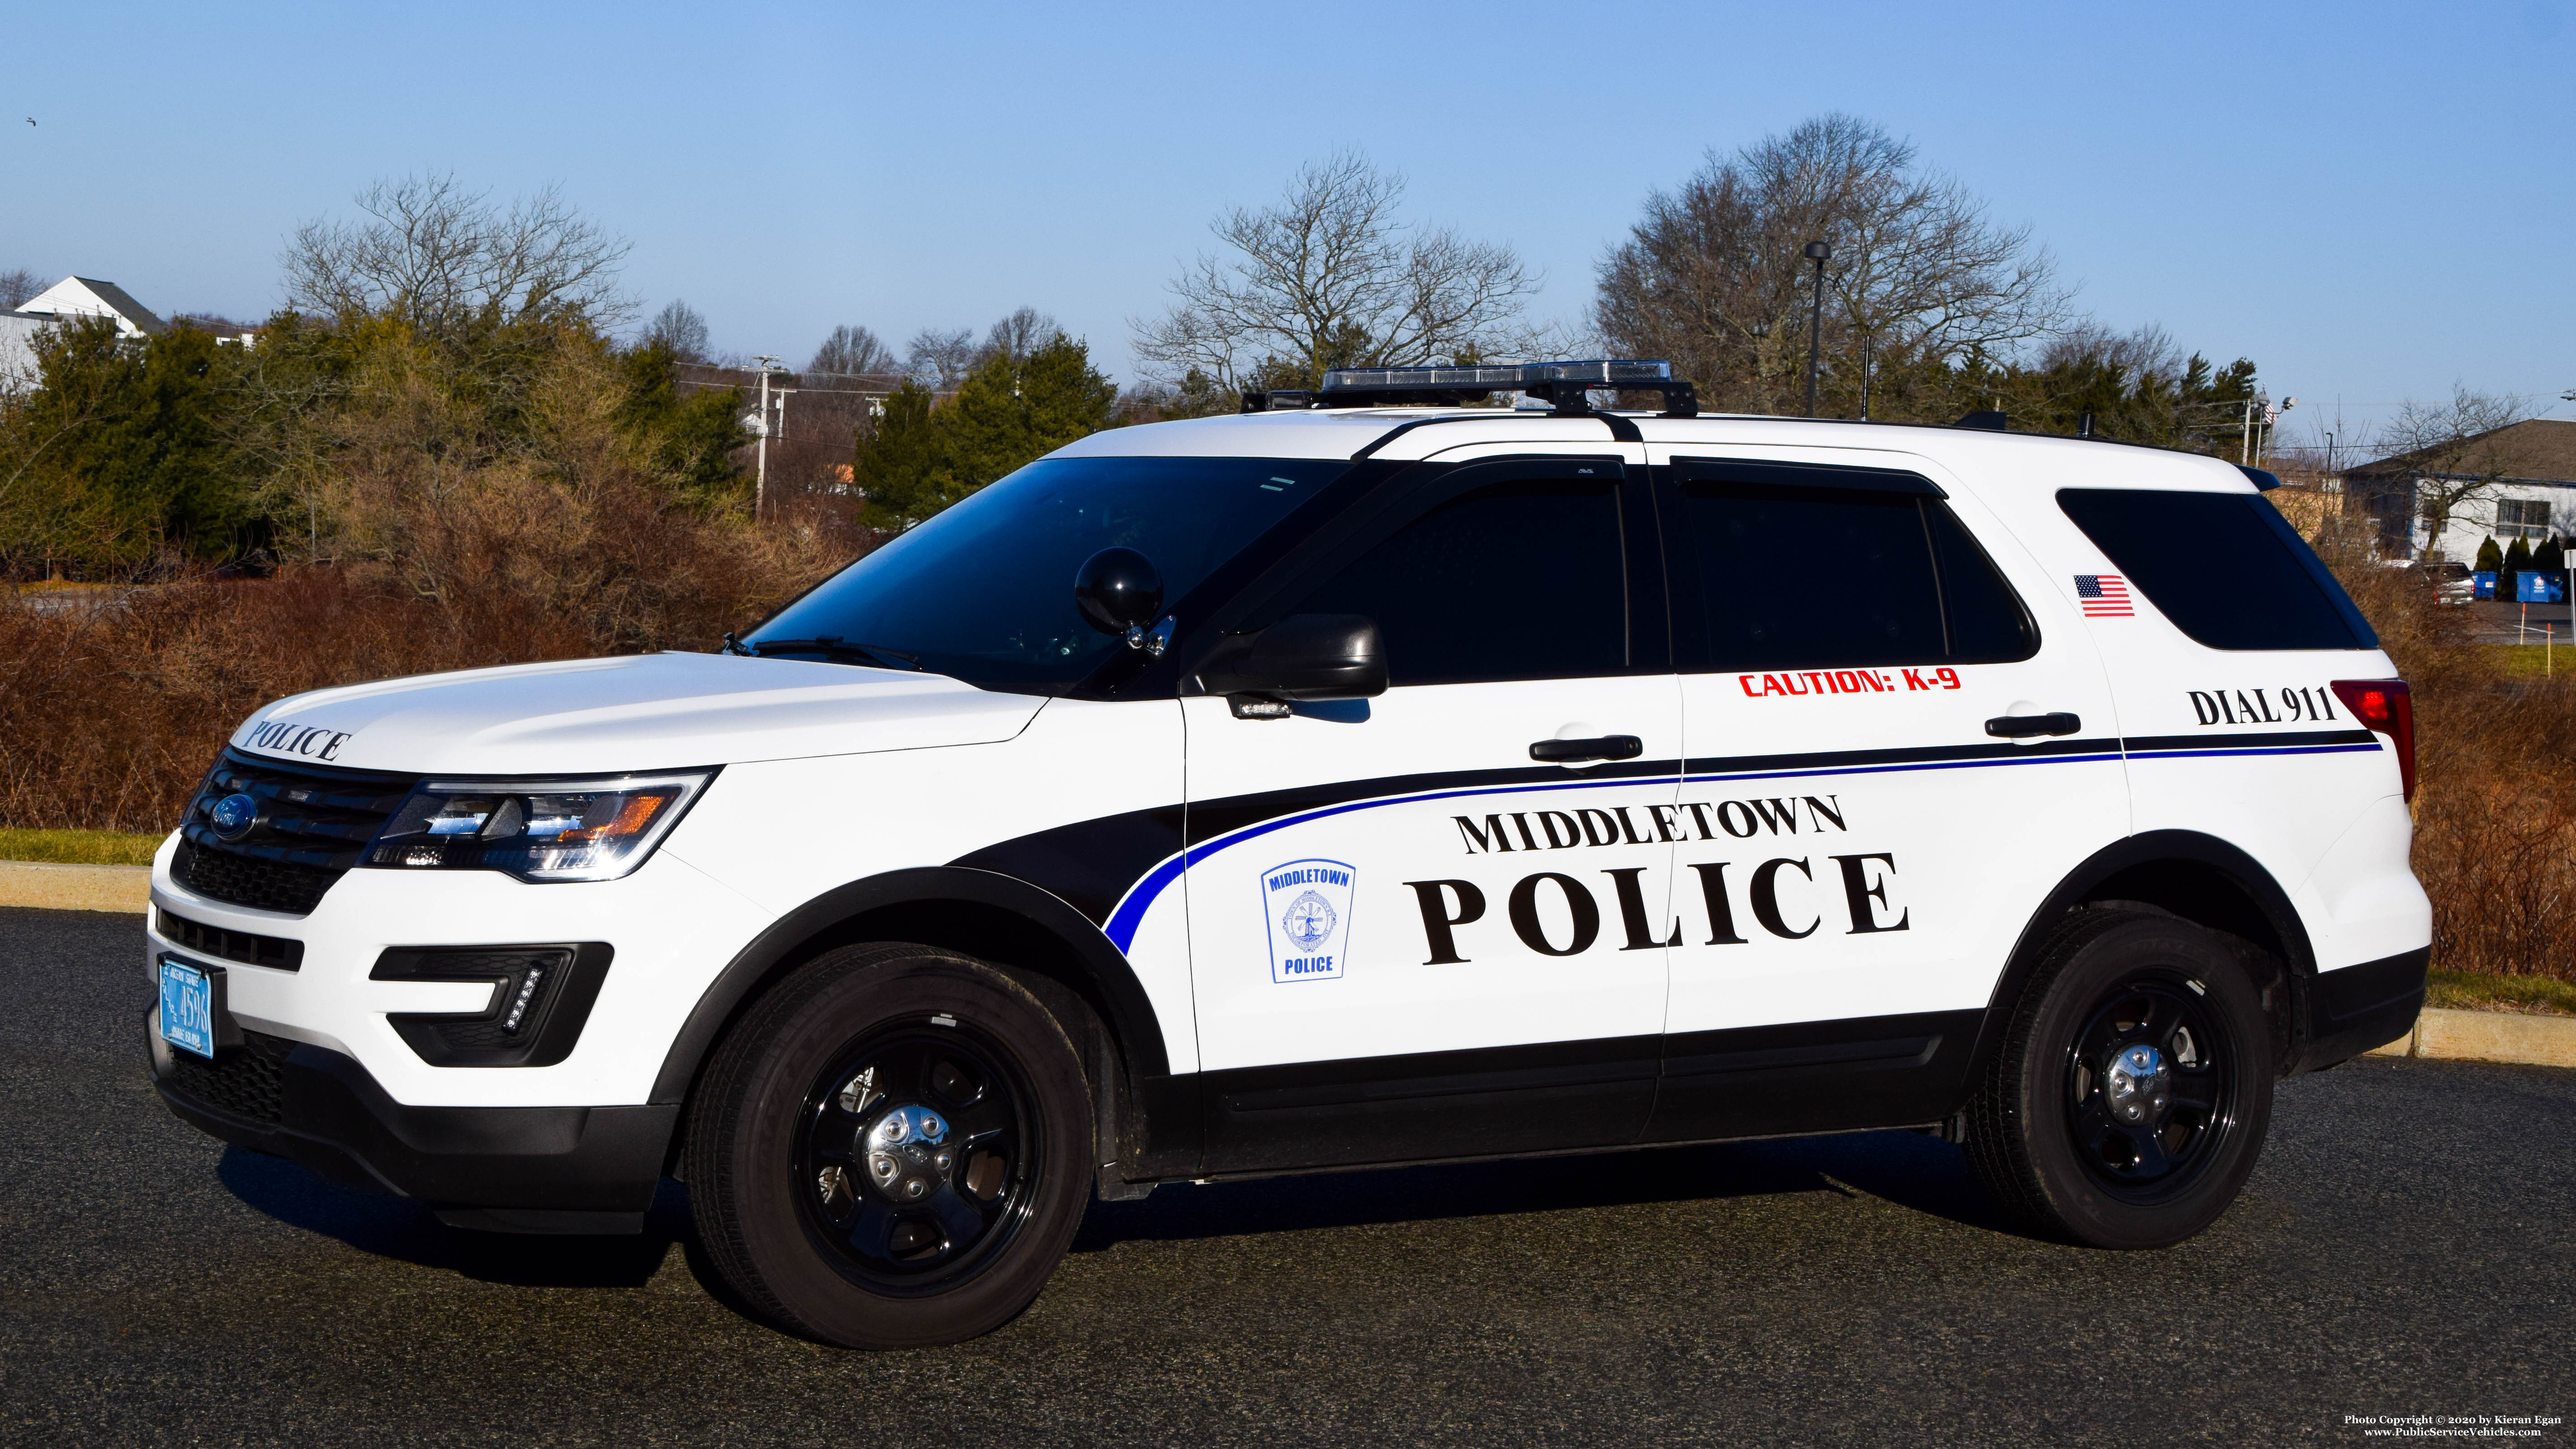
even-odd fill
[{"label": "whole rear wheel with black tire, nearest the red taillight", "polygon": [[1994,1201],[2089,1248],[2166,1248],[2215,1222],[2272,1122],[2249,951],[2148,910],[2069,920],[1968,1104]]}]

